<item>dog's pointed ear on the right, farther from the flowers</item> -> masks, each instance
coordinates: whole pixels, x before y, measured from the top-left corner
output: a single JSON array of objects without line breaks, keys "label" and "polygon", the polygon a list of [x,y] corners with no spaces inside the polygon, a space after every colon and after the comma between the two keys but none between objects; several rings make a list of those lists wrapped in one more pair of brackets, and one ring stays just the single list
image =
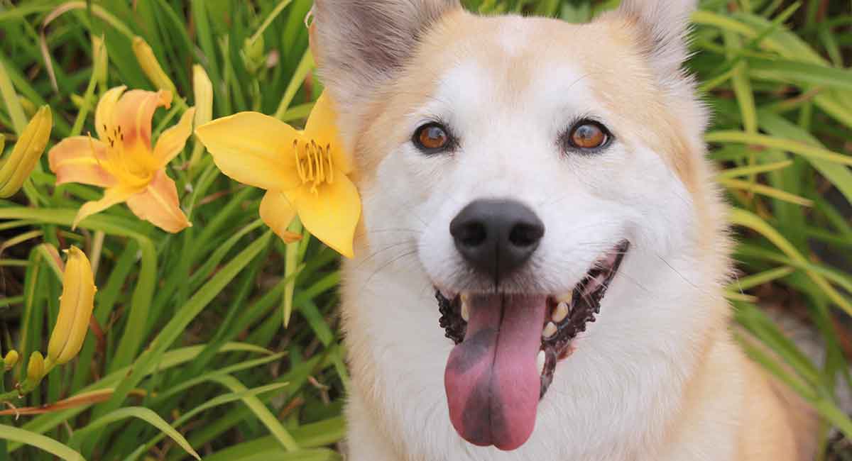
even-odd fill
[{"label": "dog's pointed ear on the right, farther from the flowers", "polygon": [[681,76],[688,58],[689,16],[698,0],[623,0],[610,14],[636,28],[645,54],[660,77]]}]

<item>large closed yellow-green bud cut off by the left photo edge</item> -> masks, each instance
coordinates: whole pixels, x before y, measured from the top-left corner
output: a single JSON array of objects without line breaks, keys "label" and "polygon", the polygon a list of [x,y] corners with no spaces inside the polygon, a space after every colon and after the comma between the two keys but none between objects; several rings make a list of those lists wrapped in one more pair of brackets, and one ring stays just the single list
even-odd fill
[{"label": "large closed yellow-green bud cut off by the left photo edge", "polygon": [[20,191],[42,157],[52,128],[50,107],[44,105],[26,125],[9,157],[0,161],[0,198],[14,196]]}]

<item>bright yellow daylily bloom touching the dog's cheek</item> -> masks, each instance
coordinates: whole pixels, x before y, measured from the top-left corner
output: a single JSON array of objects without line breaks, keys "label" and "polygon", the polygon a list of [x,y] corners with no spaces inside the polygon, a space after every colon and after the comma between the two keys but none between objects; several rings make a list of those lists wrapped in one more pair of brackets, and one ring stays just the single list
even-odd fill
[{"label": "bright yellow daylily bloom touching the dog's cheek", "polygon": [[261,219],[281,238],[298,214],[305,228],[348,258],[361,214],[348,178],[352,159],[337,133],[337,112],[321,95],[303,131],[258,112],[241,112],[196,129],[216,166],[232,179],[267,191]]}]

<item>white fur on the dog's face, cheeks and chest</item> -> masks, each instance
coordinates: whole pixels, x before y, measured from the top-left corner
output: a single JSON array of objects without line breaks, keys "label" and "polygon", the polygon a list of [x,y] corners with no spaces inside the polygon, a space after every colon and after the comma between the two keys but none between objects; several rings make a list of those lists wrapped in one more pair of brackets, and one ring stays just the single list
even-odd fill
[{"label": "white fur on the dog's face, cheeks and chest", "polygon": [[[459,151],[428,158],[411,143],[400,145],[362,191],[370,251],[347,265],[344,315],[350,353],[374,367],[353,373],[375,381],[351,397],[351,458],[395,459],[395,450],[410,459],[453,461],[686,459],[647,447],[664,445],[666,424],[696,365],[710,313],[690,306],[715,301],[717,274],[702,272],[693,253],[688,193],[650,146],[629,150],[619,142],[618,126],[611,126],[617,140],[600,155],[559,150],[554,139],[573,120],[594,116],[606,123],[610,116],[578,68],[539,63],[535,81],[508,99],[492,71],[458,63],[435,98],[400,122],[413,132],[440,117],[461,139]],[[533,272],[545,293],[568,292],[621,239],[633,245],[598,322],[558,364],[531,440],[515,452],[464,442],[452,429],[444,394],[452,342],[438,327],[433,286],[458,289],[454,276],[463,263],[449,222],[484,197],[525,202],[544,221]],[[730,413],[708,423],[714,434],[708,442],[734,430]],[[703,458],[733,456],[708,449],[714,451]]]}]

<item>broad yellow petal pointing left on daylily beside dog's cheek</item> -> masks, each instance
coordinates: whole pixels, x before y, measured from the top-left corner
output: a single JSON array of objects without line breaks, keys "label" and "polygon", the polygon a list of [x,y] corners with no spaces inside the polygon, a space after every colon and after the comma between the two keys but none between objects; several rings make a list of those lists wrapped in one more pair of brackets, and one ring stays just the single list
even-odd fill
[{"label": "broad yellow petal pointing left on daylily beside dog's cheek", "polygon": [[277,118],[240,112],[205,123],[195,134],[231,179],[273,191],[302,184],[292,150],[301,134]]}]

